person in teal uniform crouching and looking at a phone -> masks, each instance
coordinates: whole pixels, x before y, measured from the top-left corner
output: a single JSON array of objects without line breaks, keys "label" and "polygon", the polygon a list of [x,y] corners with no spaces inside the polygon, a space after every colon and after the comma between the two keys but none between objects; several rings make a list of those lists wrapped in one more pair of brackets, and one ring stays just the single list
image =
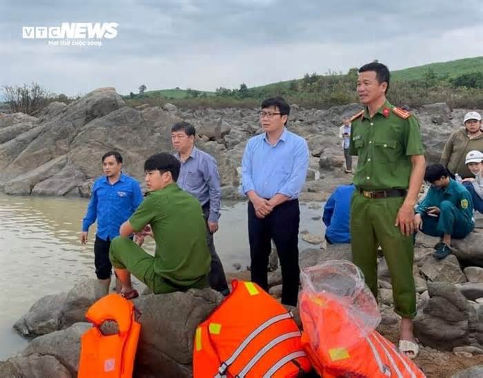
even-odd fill
[{"label": "person in teal uniform crouching and looking at a phone", "polygon": [[462,239],[475,226],[473,200],[441,164],[426,167],[424,180],[431,183],[431,188],[416,208],[414,228],[426,235],[442,237],[433,256],[444,259],[451,253],[451,238]]}]

